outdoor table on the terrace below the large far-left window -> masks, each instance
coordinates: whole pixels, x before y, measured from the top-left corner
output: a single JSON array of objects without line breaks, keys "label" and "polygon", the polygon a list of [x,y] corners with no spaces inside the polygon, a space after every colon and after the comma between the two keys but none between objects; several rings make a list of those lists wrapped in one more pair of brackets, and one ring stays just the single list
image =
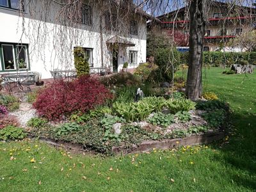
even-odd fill
[{"label": "outdoor table on the terrace below the large far-left window", "polygon": [[35,74],[10,74],[3,76],[3,80],[10,93],[12,93],[15,88],[20,92],[26,92],[24,88],[27,88],[27,91],[30,92],[30,85],[35,84]]}]

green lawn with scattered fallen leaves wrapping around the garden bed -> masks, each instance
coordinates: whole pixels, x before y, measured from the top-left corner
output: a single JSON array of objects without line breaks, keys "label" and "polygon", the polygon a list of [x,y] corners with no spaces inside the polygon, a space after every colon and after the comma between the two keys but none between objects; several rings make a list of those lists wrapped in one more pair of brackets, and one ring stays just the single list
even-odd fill
[{"label": "green lawn with scattered fallen leaves wrapping around the garden bed", "polygon": [[206,69],[203,79],[204,91],[232,108],[236,132],[227,141],[117,157],[68,154],[38,141],[0,143],[0,191],[256,191],[256,74],[222,71]]}]

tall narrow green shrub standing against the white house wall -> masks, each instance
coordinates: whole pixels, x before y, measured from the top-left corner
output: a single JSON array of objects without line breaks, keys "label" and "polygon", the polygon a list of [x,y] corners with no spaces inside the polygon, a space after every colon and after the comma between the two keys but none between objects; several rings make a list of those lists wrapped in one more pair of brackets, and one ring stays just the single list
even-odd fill
[{"label": "tall narrow green shrub standing against the white house wall", "polygon": [[74,48],[74,58],[77,76],[84,76],[90,73],[89,63],[85,57],[85,52],[83,47]]}]

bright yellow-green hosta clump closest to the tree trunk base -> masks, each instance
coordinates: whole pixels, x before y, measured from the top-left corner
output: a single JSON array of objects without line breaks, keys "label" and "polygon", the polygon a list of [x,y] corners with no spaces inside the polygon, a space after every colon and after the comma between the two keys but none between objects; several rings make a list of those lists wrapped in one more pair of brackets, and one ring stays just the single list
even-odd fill
[{"label": "bright yellow-green hosta clump closest to the tree trunk base", "polygon": [[189,111],[195,109],[196,103],[189,99],[168,99],[166,100],[166,107],[170,113],[177,113],[179,111]]}]

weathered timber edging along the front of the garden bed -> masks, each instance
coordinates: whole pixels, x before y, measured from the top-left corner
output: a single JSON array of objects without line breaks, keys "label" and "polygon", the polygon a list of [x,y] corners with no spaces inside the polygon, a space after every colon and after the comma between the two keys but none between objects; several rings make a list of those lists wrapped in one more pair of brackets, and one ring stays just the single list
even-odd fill
[{"label": "weathered timber edging along the front of the garden bed", "polygon": [[[30,138],[35,138],[33,136],[29,136]],[[225,137],[224,132],[208,132],[201,135],[196,136],[188,136],[186,138],[176,138],[176,139],[165,139],[161,141],[156,140],[148,140],[143,141],[138,145],[132,145],[132,147],[118,146],[112,147],[113,154],[130,154],[136,152],[147,152],[152,150],[153,148],[158,149],[170,149],[170,148],[178,148],[184,145],[199,145],[199,144],[207,144],[212,141],[221,140]],[[83,144],[65,142],[60,140],[52,140],[50,138],[45,137],[36,137],[38,140],[53,145],[55,147],[66,148],[68,150],[75,150],[76,152],[88,152],[86,148],[84,148]]]}]

